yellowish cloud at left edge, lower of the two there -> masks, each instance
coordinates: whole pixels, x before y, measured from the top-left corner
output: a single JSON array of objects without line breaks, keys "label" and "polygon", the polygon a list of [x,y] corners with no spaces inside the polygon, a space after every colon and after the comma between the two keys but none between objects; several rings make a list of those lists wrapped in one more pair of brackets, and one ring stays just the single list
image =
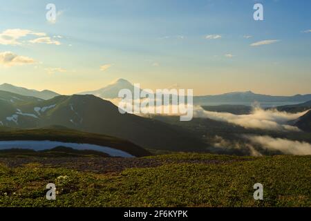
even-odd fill
[{"label": "yellowish cloud at left edge, lower of the two there", "polygon": [[34,64],[35,60],[30,57],[16,55],[13,52],[0,52],[0,64],[4,66],[17,66],[23,64]]}]

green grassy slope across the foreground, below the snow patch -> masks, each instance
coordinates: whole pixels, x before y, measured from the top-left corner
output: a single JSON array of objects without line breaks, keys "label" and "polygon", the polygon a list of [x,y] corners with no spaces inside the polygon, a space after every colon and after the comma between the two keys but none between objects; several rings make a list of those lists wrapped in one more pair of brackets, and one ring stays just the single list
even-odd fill
[{"label": "green grassy slope across the foreground, below the snow patch", "polygon": [[[176,154],[147,157],[162,166],[121,173],[0,166],[0,206],[311,206],[311,157]],[[66,175],[66,178],[57,178]],[[57,200],[44,198],[57,185]],[[264,200],[253,199],[253,185]]]}]

